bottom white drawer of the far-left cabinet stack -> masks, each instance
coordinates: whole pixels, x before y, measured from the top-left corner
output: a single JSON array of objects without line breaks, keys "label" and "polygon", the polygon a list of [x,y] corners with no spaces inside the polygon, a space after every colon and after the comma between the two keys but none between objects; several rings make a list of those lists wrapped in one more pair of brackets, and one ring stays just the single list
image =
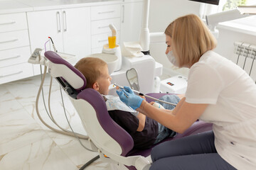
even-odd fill
[{"label": "bottom white drawer of the far-left cabinet stack", "polygon": [[33,76],[33,66],[29,63],[0,68],[0,84]]}]

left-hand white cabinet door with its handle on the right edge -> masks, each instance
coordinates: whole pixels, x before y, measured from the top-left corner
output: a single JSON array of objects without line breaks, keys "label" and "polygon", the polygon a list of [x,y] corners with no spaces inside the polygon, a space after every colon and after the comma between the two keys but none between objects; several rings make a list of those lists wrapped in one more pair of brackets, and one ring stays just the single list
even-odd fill
[{"label": "left-hand white cabinet door with its handle on the right edge", "polygon": [[[53,39],[58,51],[63,52],[63,36],[60,10],[28,12],[28,32],[31,42],[31,51],[36,48],[44,49],[48,37]],[[50,42],[46,50],[53,50]]]}]

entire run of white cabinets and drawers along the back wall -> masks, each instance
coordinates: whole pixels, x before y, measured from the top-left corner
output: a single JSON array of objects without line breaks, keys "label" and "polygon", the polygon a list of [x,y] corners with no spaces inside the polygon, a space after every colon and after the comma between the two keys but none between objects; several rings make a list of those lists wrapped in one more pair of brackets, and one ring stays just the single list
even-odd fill
[{"label": "entire run of white cabinets and drawers along the back wall", "polygon": [[28,58],[36,48],[53,50],[48,37],[59,52],[76,55],[77,60],[102,52],[110,23],[117,28],[117,44],[139,40],[142,0],[90,5],[77,1],[73,7],[63,2],[49,8],[43,3],[31,3],[34,11],[0,14],[0,84],[40,74],[39,65],[28,64]]}]

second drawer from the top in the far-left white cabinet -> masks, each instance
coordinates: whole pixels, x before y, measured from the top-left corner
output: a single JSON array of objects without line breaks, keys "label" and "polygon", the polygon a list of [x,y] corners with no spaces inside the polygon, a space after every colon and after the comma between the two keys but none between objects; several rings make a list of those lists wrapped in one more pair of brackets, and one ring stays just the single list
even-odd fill
[{"label": "second drawer from the top in the far-left white cabinet", "polygon": [[0,50],[8,50],[29,45],[28,30],[0,33]]}]

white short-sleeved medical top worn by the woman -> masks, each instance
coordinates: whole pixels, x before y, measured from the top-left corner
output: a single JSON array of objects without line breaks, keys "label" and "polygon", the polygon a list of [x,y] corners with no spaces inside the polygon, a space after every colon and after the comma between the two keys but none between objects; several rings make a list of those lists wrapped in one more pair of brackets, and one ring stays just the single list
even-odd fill
[{"label": "white short-sleeved medical top worn by the woman", "polygon": [[256,85],[239,66],[208,51],[188,74],[187,103],[208,103],[218,154],[236,169],[256,169]]}]

